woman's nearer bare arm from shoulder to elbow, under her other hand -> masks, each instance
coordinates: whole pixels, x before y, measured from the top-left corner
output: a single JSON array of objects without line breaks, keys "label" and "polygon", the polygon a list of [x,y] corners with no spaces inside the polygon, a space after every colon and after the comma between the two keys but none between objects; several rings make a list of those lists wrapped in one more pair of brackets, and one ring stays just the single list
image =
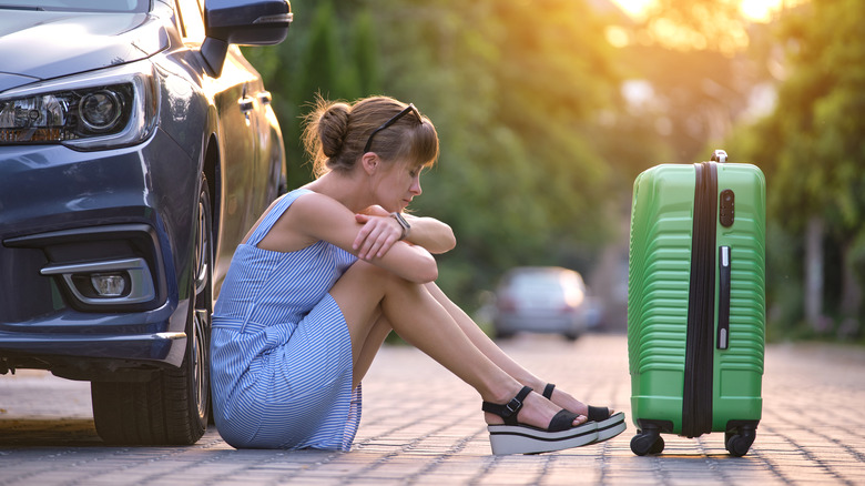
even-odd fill
[{"label": "woman's nearer bare arm from shoulder to elbow, under her other hand", "polygon": [[363,227],[338,201],[309,193],[292,203],[258,247],[294,251],[323,240],[411,282],[427,283],[438,277],[436,260],[423,246],[398,241],[381,256],[362,256],[355,242]]}]

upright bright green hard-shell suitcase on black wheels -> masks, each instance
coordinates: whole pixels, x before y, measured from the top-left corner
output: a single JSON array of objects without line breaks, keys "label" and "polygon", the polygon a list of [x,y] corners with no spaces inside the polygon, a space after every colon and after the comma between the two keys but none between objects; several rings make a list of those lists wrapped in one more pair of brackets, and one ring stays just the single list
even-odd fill
[{"label": "upright bright green hard-shell suitcase on black wheels", "polygon": [[754,165],[661,164],[633,186],[628,276],[631,450],[661,433],[724,432],[731,455],[761,418],[765,180]]}]

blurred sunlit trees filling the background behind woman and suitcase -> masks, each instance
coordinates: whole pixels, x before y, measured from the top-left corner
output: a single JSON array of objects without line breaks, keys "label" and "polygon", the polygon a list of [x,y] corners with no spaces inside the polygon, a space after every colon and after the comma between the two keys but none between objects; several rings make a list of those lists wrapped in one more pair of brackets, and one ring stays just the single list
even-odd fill
[{"label": "blurred sunlit trees filling the background behind woman and suitcase", "polygon": [[292,0],[245,50],[274,94],[289,186],[311,180],[316,92],[387,94],[436,124],[413,209],[458,246],[440,286],[481,325],[517,266],[584,279],[592,328],[625,330],[633,179],[708,160],[766,175],[770,340],[865,344],[862,0]]}]

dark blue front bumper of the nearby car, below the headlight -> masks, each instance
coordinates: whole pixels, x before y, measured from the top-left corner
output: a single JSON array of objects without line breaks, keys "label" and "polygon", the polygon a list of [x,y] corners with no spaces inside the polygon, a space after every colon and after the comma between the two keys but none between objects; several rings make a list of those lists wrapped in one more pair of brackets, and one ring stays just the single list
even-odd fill
[{"label": "dark blue front bumper of the nearby car, below the headlight", "polygon": [[[160,131],[100,152],[0,146],[0,372],[179,366],[197,180]],[[109,273],[125,290],[100,295],[90,277]]]}]

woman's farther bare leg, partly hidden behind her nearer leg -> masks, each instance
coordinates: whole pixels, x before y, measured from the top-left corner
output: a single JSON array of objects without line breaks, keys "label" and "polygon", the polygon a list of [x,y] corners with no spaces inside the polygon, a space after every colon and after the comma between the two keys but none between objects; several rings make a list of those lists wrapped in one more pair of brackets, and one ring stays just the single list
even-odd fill
[{"label": "woman's farther bare leg, partly hidden behind her nearer leg", "polygon": [[[530,386],[537,392],[542,392],[547,386],[547,382],[535,376],[531,372],[522,367],[508,356],[496,343],[487,336],[484,331],[478,327],[475,321],[466,314],[457,304],[455,304],[435,283],[428,283],[427,290],[451,315],[454,321],[462,328],[469,340],[475,346],[480,350],[487,357],[489,357],[497,366],[512,376],[515,379],[526,386]],[[578,401],[568,393],[556,388],[552,394],[552,402],[560,407],[573,412],[578,415],[587,415],[589,412],[588,405]],[[610,409],[612,414],[612,408]]]}]

